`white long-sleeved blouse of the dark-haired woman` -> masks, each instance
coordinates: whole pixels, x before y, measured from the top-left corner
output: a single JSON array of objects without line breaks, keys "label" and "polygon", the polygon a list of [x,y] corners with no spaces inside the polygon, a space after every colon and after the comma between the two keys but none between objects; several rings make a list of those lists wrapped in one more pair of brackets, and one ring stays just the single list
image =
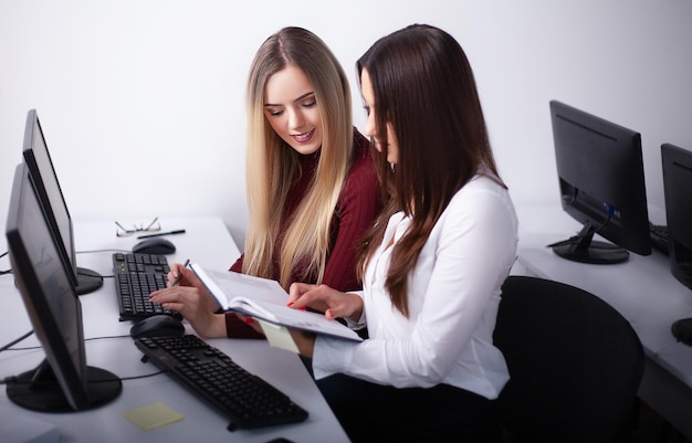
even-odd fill
[{"label": "white long-sleeved blouse of the dark-haired woman", "polygon": [[508,192],[476,176],[450,201],[408,281],[409,318],[385,289],[394,238],[410,219],[389,219],[382,244],[365,274],[364,319],[369,339],[318,336],[316,379],[345,373],[397,388],[459,387],[495,399],[508,371],[492,334],[501,285],[517,254],[517,219]]}]

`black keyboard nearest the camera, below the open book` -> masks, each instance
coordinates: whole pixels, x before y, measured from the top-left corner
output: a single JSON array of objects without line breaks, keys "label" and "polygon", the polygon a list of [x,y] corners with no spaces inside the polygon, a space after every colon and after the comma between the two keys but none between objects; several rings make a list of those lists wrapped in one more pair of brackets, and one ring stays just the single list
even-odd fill
[{"label": "black keyboard nearest the camera, below the open book", "polygon": [[231,420],[228,429],[273,426],[307,419],[307,411],[193,335],[135,339],[137,348]]}]

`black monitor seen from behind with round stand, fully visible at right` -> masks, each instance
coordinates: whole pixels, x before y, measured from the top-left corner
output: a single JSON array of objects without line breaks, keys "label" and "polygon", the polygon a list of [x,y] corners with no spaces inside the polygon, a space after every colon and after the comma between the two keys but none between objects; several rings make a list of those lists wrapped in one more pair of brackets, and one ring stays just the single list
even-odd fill
[{"label": "black monitor seen from behind with round stand, fully visible at right", "polygon": [[[639,133],[564,103],[551,102],[562,207],[584,229],[552,244],[583,263],[619,263],[651,253]],[[593,240],[595,233],[610,242]]]}]

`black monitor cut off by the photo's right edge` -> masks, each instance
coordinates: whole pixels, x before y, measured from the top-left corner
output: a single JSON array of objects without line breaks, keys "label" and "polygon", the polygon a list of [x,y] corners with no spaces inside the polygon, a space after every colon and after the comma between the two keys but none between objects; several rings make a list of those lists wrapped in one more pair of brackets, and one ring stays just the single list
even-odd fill
[{"label": "black monitor cut off by the photo's right edge", "polygon": [[661,145],[671,273],[692,289],[692,152]]}]

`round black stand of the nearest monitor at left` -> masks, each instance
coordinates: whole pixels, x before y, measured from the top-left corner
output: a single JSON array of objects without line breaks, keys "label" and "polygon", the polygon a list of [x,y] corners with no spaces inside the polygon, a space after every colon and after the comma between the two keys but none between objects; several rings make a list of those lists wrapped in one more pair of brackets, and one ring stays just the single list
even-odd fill
[{"label": "round black stand of the nearest monitor at left", "polygon": [[[123,391],[123,382],[114,373],[86,367],[88,405],[93,409],[108,403]],[[48,361],[36,369],[7,379],[7,395],[19,407],[39,412],[76,412],[55,379]]]}]

